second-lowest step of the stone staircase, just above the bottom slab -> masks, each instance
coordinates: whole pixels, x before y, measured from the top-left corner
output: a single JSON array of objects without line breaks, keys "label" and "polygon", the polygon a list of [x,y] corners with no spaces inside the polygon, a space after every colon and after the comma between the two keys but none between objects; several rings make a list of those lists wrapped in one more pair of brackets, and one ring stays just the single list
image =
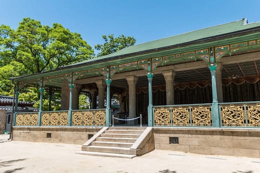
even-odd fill
[{"label": "second-lowest step of the stone staircase, just above the bottom slab", "polygon": [[138,152],[138,150],[130,150],[129,148],[100,146],[82,146],[81,150],[86,152],[115,153],[125,155],[136,155],[136,152]]}]

